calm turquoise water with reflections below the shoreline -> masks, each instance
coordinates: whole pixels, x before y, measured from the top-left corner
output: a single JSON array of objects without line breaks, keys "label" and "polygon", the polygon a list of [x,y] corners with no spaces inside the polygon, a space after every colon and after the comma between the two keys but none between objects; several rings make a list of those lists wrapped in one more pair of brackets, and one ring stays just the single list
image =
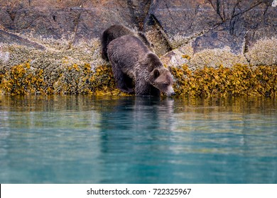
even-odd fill
[{"label": "calm turquoise water with reflections below the shoreline", "polygon": [[277,183],[277,101],[0,96],[0,183]]}]

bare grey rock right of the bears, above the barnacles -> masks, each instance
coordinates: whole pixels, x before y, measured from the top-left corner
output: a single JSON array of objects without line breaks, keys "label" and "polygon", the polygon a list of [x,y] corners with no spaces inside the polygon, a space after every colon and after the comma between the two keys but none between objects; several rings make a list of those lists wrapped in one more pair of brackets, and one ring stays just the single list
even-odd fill
[{"label": "bare grey rock right of the bears, above the barnacles", "polygon": [[153,0],[145,30],[158,25],[171,49],[192,42],[194,52],[230,47],[235,54],[244,53],[257,40],[277,36],[277,10],[271,3]]}]

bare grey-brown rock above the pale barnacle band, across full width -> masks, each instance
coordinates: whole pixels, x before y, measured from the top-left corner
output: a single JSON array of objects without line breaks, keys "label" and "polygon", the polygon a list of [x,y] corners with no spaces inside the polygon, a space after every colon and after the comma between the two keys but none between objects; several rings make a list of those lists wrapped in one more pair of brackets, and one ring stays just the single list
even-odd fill
[{"label": "bare grey-brown rock above the pale barnacle band, across full width", "polygon": [[[0,0],[0,39],[2,43],[38,50],[45,50],[39,41],[45,38],[63,39],[70,46],[77,46],[98,39],[109,25],[121,23],[146,31],[160,55],[185,45],[192,47],[190,55],[208,49],[246,55],[259,40],[277,37],[277,8],[273,3],[272,0]],[[251,62],[251,57],[246,59]]]}]

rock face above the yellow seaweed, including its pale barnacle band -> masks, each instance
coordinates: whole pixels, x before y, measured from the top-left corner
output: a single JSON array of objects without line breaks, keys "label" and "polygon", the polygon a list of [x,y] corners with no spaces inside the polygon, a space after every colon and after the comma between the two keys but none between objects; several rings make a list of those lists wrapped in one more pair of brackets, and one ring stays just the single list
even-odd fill
[{"label": "rock face above the yellow seaweed, including its pale barnacle band", "polygon": [[[277,64],[273,0],[0,0],[0,69],[29,62],[53,74],[105,64],[99,36],[121,23],[146,33],[168,65]],[[58,78],[58,76],[57,76]]]}]

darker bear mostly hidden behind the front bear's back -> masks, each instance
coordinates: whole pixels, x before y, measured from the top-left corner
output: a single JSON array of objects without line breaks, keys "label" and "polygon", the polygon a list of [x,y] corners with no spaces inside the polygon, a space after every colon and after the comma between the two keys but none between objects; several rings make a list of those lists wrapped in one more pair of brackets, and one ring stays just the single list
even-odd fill
[{"label": "darker bear mostly hidden behind the front bear's back", "polygon": [[101,47],[102,47],[102,58],[105,60],[108,60],[107,57],[107,47],[109,45],[109,42],[112,40],[124,36],[124,35],[134,35],[139,37],[139,39],[144,42],[144,44],[149,47],[149,49],[154,52],[153,50],[153,44],[148,41],[146,36],[139,32],[135,33],[134,31],[130,30],[129,28],[126,28],[124,25],[112,25],[107,30],[104,30],[101,37]]}]

